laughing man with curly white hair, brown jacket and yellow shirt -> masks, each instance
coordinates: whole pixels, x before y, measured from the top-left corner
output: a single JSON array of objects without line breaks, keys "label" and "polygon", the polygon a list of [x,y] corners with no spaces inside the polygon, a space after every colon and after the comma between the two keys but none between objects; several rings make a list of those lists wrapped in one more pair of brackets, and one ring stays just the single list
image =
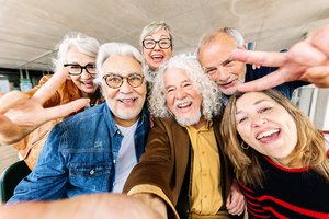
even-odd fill
[{"label": "laughing man with curly white hair, brown jacket and yellow shirt", "polygon": [[220,92],[197,60],[173,57],[154,81],[155,124],[124,187],[163,218],[229,218],[245,199],[219,146]]}]

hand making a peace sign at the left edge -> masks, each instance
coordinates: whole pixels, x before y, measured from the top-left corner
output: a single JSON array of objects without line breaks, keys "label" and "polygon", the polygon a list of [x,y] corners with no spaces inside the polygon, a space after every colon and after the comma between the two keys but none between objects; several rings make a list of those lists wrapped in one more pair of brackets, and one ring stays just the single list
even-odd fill
[{"label": "hand making a peace sign at the left edge", "polygon": [[88,104],[87,99],[80,99],[65,105],[43,107],[66,78],[67,73],[55,73],[32,97],[20,91],[0,97],[0,145],[18,142],[44,123],[65,117]]}]

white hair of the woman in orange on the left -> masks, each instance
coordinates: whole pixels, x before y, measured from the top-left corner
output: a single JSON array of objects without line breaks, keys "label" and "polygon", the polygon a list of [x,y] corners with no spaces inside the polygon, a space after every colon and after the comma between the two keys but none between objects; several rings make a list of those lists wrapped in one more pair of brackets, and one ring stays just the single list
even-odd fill
[{"label": "white hair of the woman in orange on the left", "polygon": [[69,33],[64,36],[64,39],[56,46],[58,48],[57,58],[53,59],[54,71],[58,71],[67,62],[67,54],[75,46],[82,54],[91,57],[97,57],[100,43],[82,33]]}]

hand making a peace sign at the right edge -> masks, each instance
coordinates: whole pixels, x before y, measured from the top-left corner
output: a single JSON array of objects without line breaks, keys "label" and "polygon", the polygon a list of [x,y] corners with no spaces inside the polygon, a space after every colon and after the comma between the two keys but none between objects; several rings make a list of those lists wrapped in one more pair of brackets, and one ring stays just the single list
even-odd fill
[{"label": "hand making a peace sign at the right edge", "polygon": [[303,80],[319,88],[329,87],[329,25],[318,28],[288,53],[247,51],[236,49],[235,60],[260,66],[280,67],[276,71],[252,82],[240,84],[239,91],[259,91],[287,81]]}]

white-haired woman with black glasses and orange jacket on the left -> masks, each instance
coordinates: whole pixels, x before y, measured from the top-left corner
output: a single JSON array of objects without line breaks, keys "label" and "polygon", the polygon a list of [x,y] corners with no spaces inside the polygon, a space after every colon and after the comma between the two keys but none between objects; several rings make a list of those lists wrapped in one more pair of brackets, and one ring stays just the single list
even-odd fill
[{"label": "white-haired woman with black glasses and orange jacket on the left", "polygon": [[[56,74],[67,74],[67,80],[63,83],[55,94],[47,100],[43,106],[53,107],[87,97],[90,100],[91,107],[102,101],[100,89],[93,83],[95,77],[95,58],[99,50],[99,42],[81,33],[68,34],[58,45],[57,58],[53,60]],[[27,91],[29,96],[43,87],[52,76],[44,76],[38,85]],[[23,140],[12,145],[19,150],[27,166],[33,170],[37,161],[41,149],[43,148],[52,128],[63,118],[50,120]]]}]

